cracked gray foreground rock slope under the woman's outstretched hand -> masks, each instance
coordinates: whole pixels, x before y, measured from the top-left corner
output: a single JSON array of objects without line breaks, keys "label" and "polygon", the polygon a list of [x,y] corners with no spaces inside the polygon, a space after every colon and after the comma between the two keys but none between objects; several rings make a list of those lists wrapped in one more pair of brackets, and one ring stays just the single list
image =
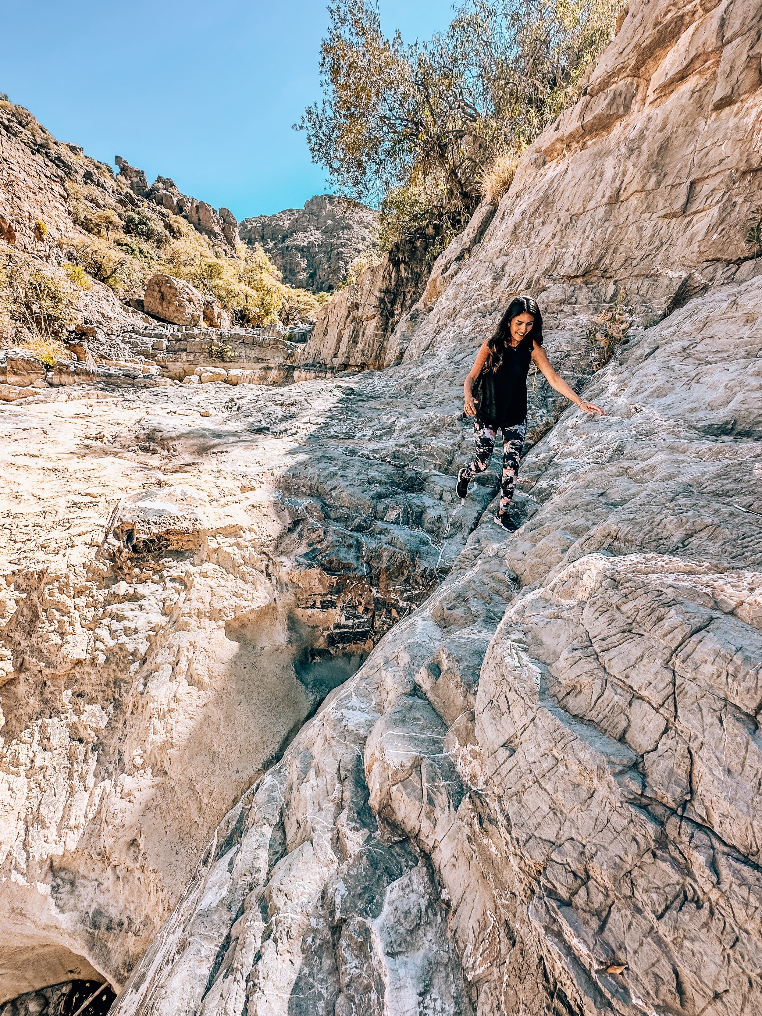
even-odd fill
[{"label": "cracked gray foreground rock slope under the woman's outstretched hand", "polygon": [[755,279],[596,376],[529,520],[226,817],[117,1016],[760,1010],[761,347]]}]

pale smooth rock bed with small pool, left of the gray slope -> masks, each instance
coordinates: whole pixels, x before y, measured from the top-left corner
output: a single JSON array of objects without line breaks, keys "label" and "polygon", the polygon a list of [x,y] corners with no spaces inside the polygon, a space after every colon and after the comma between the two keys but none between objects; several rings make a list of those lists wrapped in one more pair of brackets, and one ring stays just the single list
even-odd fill
[{"label": "pale smooth rock bed with small pool, left of the gray slope", "polygon": [[[580,332],[548,342],[578,386]],[[76,385],[6,410],[10,997],[82,961],[121,987],[228,810],[447,574],[499,475],[454,498],[470,355],[280,389]],[[531,404],[536,438],[567,403],[539,382]]]}]

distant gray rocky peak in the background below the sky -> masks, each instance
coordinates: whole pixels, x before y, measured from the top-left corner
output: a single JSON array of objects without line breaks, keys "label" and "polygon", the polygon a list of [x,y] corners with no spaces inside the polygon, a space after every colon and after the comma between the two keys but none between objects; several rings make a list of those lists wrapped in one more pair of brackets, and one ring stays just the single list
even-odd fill
[{"label": "distant gray rocky peak in the background below the sky", "polygon": [[304,208],[254,215],[241,223],[241,239],[260,244],[289,285],[331,292],[359,254],[377,247],[378,214],[357,201],[319,194]]}]

